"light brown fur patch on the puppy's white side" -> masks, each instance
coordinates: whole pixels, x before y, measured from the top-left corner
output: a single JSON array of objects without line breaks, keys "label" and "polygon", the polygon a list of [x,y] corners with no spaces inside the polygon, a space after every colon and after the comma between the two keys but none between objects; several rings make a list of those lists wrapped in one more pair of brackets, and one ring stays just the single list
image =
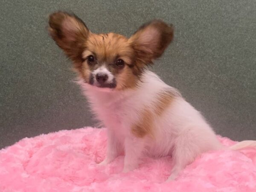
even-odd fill
[{"label": "light brown fur patch on the puppy's white side", "polygon": [[170,90],[164,90],[163,92],[159,93],[156,102],[154,102],[153,110],[151,111],[148,108],[144,108],[144,110],[140,113],[140,121],[132,125],[132,134],[140,138],[145,137],[146,135],[154,137],[154,118],[163,114],[173,99],[175,99],[175,96],[176,94]]}]

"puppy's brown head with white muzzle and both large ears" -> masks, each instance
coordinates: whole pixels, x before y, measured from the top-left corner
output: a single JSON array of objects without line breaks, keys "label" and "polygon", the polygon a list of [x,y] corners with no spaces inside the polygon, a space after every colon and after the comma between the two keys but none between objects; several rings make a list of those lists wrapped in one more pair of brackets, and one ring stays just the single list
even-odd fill
[{"label": "puppy's brown head with white muzzle and both large ears", "polygon": [[115,90],[136,87],[145,66],[160,57],[173,38],[172,26],[160,20],[141,26],[130,38],[94,34],[66,12],[49,16],[49,32],[84,82]]}]

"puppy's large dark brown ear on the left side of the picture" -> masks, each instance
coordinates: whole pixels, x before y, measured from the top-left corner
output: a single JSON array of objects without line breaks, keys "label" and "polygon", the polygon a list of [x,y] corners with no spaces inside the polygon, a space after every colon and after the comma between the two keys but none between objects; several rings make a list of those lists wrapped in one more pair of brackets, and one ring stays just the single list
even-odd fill
[{"label": "puppy's large dark brown ear on the left side of the picture", "polygon": [[84,22],[76,15],[55,12],[49,16],[49,33],[56,44],[74,62],[82,62],[82,52],[90,33]]}]

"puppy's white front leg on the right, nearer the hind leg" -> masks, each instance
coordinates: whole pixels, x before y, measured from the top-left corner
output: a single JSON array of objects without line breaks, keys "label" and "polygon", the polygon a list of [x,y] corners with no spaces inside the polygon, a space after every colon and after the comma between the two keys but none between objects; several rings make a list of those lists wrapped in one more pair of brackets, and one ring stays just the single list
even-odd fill
[{"label": "puppy's white front leg on the right, nearer the hind leg", "polygon": [[123,172],[129,172],[140,163],[145,141],[142,138],[127,137],[125,138],[125,161]]}]

